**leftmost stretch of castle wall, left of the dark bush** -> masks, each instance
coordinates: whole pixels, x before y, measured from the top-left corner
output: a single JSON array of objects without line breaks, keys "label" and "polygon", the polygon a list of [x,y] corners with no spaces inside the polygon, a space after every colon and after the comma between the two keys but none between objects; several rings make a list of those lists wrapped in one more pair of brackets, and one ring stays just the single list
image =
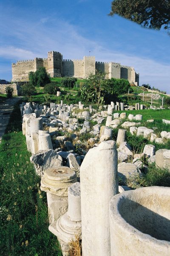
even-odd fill
[{"label": "leftmost stretch of castle wall, left of the dark bush", "polygon": [[36,58],[29,61],[17,61],[12,64],[12,81],[28,81],[28,74],[36,71]]}]

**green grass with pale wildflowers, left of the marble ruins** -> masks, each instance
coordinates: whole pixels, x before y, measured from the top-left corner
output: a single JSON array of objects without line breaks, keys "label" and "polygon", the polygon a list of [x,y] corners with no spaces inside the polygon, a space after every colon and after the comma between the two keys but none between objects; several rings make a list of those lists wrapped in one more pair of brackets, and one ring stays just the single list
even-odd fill
[{"label": "green grass with pale wildflowers, left of the marble ruins", "polygon": [[61,256],[56,236],[48,231],[46,193],[30,163],[15,106],[0,144],[0,254]]}]

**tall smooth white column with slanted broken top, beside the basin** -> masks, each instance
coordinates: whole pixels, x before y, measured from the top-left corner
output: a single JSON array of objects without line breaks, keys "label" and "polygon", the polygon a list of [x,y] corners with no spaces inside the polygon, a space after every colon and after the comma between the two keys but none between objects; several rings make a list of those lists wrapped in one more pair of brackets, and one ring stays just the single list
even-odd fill
[{"label": "tall smooth white column with slanted broken top, beside the basin", "polygon": [[80,167],[82,255],[110,256],[108,205],[118,193],[117,150],[113,140],[91,148]]}]

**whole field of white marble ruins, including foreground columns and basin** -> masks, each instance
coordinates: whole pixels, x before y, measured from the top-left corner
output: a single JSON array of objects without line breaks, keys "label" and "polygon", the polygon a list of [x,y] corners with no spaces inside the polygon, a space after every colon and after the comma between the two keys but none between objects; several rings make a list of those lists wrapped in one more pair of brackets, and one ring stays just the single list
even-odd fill
[{"label": "whole field of white marble ruins, including foreground columns and basin", "polygon": [[[128,180],[141,177],[147,168],[144,159],[147,165],[170,169],[170,150],[156,151],[151,144],[164,143],[170,132],[161,131],[157,137],[156,127],[142,126],[141,114],[128,114],[132,109],[147,108],[111,102],[97,112],[82,102],[20,104],[30,161],[47,196],[48,229],[57,237],[63,256],[68,256],[76,237],[82,241],[83,256],[170,255],[170,188],[128,185]],[[148,119],[145,124],[153,121]],[[117,141],[113,141],[118,125],[123,129],[119,128]],[[133,154],[127,143],[129,128],[130,134],[150,140],[140,154]],[[63,136],[58,136],[60,131]],[[91,134],[86,142],[89,150],[79,140],[87,132]]]}]

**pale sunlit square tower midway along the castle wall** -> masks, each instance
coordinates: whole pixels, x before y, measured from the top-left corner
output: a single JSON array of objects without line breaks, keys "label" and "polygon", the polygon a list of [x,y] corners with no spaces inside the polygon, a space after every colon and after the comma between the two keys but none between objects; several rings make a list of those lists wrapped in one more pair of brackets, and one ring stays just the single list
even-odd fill
[{"label": "pale sunlit square tower midway along the castle wall", "polygon": [[84,56],[84,78],[87,78],[90,73],[95,74],[95,57]]}]

